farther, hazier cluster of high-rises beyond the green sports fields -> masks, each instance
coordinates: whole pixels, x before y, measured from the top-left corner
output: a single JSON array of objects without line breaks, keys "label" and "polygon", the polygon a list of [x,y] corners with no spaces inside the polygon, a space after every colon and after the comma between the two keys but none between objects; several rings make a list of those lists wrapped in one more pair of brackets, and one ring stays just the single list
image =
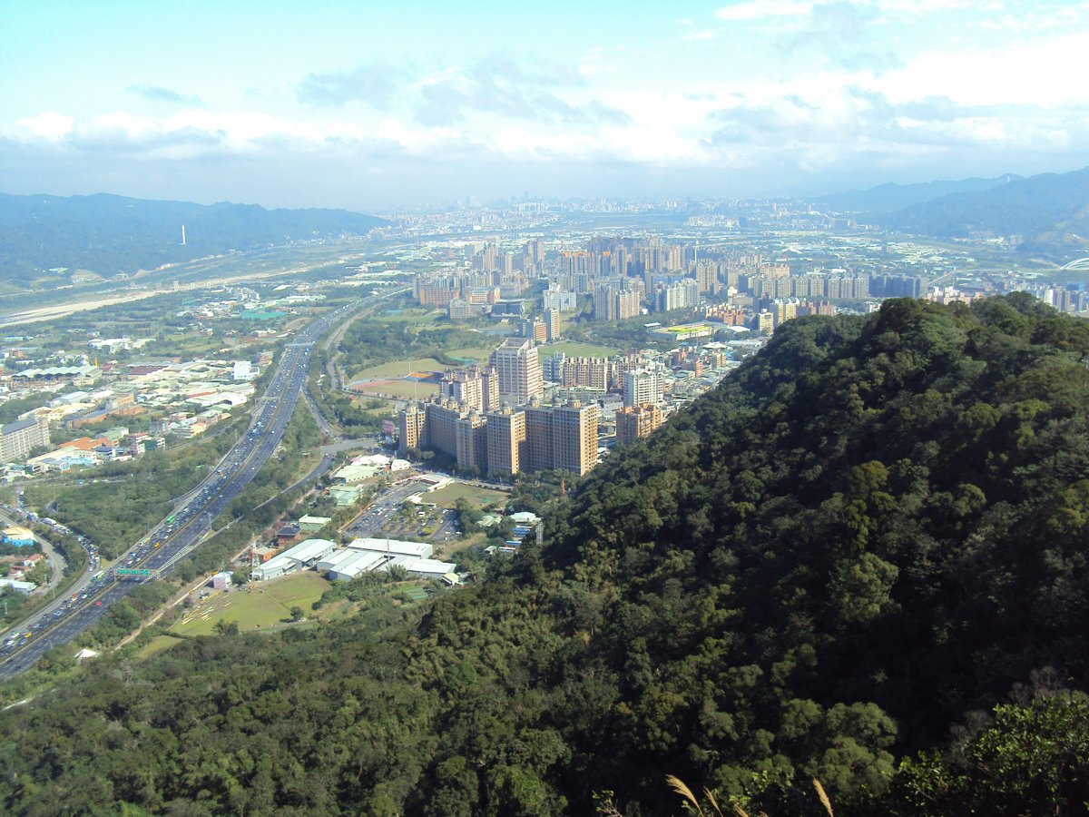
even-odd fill
[{"label": "farther, hazier cluster of high-rises beyond the green sports fields", "polygon": [[[515,252],[494,243],[473,244],[460,263],[417,277],[414,294],[423,305],[445,306],[452,319],[491,314],[524,318],[525,293],[543,281],[538,306],[544,318],[530,318],[527,337],[555,337],[553,324],[561,313],[575,312],[580,297],[589,297],[598,320],[624,320],[649,313],[696,309],[701,303],[724,302],[743,316],[731,318],[761,332],[797,314],[812,314],[805,305],[862,301],[874,292],[888,296],[918,296],[922,280],[903,275],[873,276],[845,268],[809,268],[799,271],[758,253],[703,251],[697,245],[668,244],[661,237],[595,236],[578,249],[554,249],[534,240]],[[761,315],[772,312],[772,316]],[[550,317],[551,316],[551,317]]]}]

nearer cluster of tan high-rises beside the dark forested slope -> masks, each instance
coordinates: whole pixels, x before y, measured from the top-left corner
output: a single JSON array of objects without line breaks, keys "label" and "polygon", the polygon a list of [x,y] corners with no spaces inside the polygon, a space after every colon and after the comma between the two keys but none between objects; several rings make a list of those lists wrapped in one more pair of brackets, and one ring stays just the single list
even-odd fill
[{"label": "nearer cluster of tan high-rises beside the dark forested slope", "polygon": [[598,462],[599,423],[608,435],[615,416],[621,444],[649,435],[690,397],[688,389],[674,393],[677,383],[724,369],[724,349],[541,358],[533,339],[506,338],[487,364],[444,373],[435,398],[399,412],[400,451],[440,451],[461,470],[500,477],[546,468],[585,474]]}]

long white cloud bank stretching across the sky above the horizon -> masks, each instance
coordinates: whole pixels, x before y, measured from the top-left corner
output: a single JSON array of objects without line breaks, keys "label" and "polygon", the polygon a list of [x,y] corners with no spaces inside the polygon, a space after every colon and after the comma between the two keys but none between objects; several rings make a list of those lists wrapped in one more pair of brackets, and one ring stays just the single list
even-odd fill
[{"label": "long white cloud bank stretching across the sky above the horizon", "polygon": [[[1044,29],[1044,12],[1038,22],[1024,9],[1005,11],[1010,4],[989,16],[975,14],[975,3],[957,13],[966,3],[743,0],[719,9],[707,27],[707,20],[666,21],[681,25],[672,36],[638,44],[638,50],[596,46],[554,64],[521,58],[421,61],[381,110],[273,107],[272,92],[257,101],[240,95],[238,107],[256,110],[216,110],[210,101],[176,110],[182,105],[142,107],[143,97],[129,94],[115,102],[124,109],[113,112],[72,117],[47,110],[0,122],[0,150],[7,137],[14,145],[10,155],[62,157],[70,167],[161,160],[163,174],[171,162],[189,168],[204,158],[207,168],[298,162],[420,179],[432,171],[437,178],[487,175],[484,166],[499,179],[504,166],[515,164],[547,178],[553,166],[600,164],[624,173],[649,169],[677,184],[746,168],[754,178],[815,169],[828,175],[849,172],[853,162],[898,167],[903,179],[913,167],[934,167],[934,157],[965,174],[988,172],[986,161],[998,160],[1003,170],[1027,172],[1054,164],[1055,157],[1089,154],[1089,86],[1080,65],[1089,28],[1068,23]],[[836,23],[851,10],[861,13],[848,31]],[[1026,29],[984,31],[988,20],[1007,13]],[[949,25],[932,28],[934,21]],[[799,26],[805,37],[797,35]],[[711,39],[710,46],[677,46]],[[833,59],[876,53],[879,46],[895,51],[896,62]],[[314,76],[323,77],[325,90],[340,87],[333,82],[340,74]],[[343,75],[360,83],[362,76]],[[200,99],[211,99],[197,90]],[[57,101],[47,106],[76,110]],[[925,178],[930,171],[918,172]]]}]

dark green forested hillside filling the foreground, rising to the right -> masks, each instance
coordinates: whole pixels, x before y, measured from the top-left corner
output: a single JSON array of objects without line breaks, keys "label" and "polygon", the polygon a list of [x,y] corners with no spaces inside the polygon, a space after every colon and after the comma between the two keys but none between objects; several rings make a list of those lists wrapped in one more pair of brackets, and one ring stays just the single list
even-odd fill
[{"label": "dark green forested hillside filling the foreground, rising to the right", "polygon": [[[1079,814],[1089,322],[805,318],[477,585],[106,659],[0,714],[9,813]],[[994,707],[1003,705],[991,720]],[[922,754],[919,754],[922,753]]]}]

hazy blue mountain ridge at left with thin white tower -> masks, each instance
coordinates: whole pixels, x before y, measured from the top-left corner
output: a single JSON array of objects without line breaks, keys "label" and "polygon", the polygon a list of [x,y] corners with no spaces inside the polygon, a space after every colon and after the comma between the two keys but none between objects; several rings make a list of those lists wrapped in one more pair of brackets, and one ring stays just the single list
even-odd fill
[{"label": "hazy blue mountain ridge at left with thin white tower", "polygon": [[[388,222],[348,210],[267,210],[258,205],[0,194],[0,283],[26,286],[60,267],[105,278],[230,249],[362,235]],[[182,244],[182,225],[185,244]]]}]

